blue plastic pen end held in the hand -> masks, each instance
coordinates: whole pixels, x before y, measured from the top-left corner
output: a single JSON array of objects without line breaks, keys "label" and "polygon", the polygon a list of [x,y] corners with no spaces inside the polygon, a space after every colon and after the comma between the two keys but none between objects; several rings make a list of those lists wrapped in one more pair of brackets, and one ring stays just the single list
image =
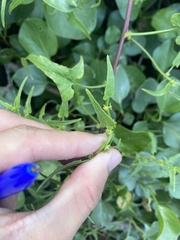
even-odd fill
[{"label": "blue plastic pen end held in the hand", "polygon": [[0,174],[0,199],[19,193],[36,180],[40,166],[36,163],[22,163]]}]

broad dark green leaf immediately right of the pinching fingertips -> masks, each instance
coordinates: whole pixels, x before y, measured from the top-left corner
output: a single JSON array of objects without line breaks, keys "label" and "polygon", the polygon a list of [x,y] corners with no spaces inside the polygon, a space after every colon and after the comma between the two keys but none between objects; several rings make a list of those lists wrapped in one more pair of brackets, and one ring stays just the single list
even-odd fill
[{"label": "broad dark green leaf immediately right of the pinching fingertips", "polygon": [[115,137],[121,139],[123,153],[141,152],[151,145],[151,135],[148,132],[131,131],[121,125],[115,128]]}]

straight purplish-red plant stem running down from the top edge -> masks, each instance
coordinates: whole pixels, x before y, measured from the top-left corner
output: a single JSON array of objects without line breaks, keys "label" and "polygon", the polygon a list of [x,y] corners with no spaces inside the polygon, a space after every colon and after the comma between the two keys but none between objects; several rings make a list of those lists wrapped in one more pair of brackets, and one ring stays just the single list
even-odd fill
[{"label": "straight purplish-red plant stem running down from the top edge", "polygon": [[116,53],[116,57],[114,60],[114,65],[113,65],[113,71],[116,71],[117,65],[118,65],[118,61],[121,55],[121,51],[122,51],[122,47],[124,44],[124,40],[125,40],[125,33],[128,31],[129,28],[129,21],[130,21],[130,16],[131,16],[131,11],[132,11],[132,5],[133,5],[133,0],[129,0],[128,1],[128,7],[127,7],[127,11],[126,11],[126,18],[125,18],[125,22],[124,22],[124,27],[123,27],[123,31],[121,34],[121,38],[119,41],[119,46],[118,46],[118,50]]}]

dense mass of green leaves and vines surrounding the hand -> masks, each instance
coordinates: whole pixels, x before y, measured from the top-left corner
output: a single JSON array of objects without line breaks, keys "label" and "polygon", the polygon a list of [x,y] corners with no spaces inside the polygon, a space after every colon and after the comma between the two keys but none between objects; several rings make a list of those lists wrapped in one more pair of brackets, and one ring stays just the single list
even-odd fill
[{"label": "dense mass of green leaves and vines surrounding the hand", "polygon": [[[111,144],[124,156],[75,239],[180,234],[180,4],[134,1],[113,71],[127,5],[1,1],[0,107],[58,129],[106,129],[101,149]],[[18,209],[49,201],[79,162],[39,163],[41,176]]]}]

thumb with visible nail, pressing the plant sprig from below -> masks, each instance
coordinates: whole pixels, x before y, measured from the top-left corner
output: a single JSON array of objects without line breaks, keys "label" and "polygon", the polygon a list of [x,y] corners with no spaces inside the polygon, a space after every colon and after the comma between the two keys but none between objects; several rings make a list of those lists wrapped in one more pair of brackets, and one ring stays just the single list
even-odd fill
[{"label": "thumb with visible nail, pressing the plant sprig from below", "polygon": [[[72,239],[96,207],[109,173],[120,161],[120,153],[111,149],[108,153],[101,152],[77,167],[55,198],[39,210],[39,214],[44,215],[41,216],[44,228],[47,224],[51,224],[52,234],[56,233],[61,239]],[[45,216],[48,216],[48,219]],[[50,235],[48,239],[52,237],[56,236]]]}]

